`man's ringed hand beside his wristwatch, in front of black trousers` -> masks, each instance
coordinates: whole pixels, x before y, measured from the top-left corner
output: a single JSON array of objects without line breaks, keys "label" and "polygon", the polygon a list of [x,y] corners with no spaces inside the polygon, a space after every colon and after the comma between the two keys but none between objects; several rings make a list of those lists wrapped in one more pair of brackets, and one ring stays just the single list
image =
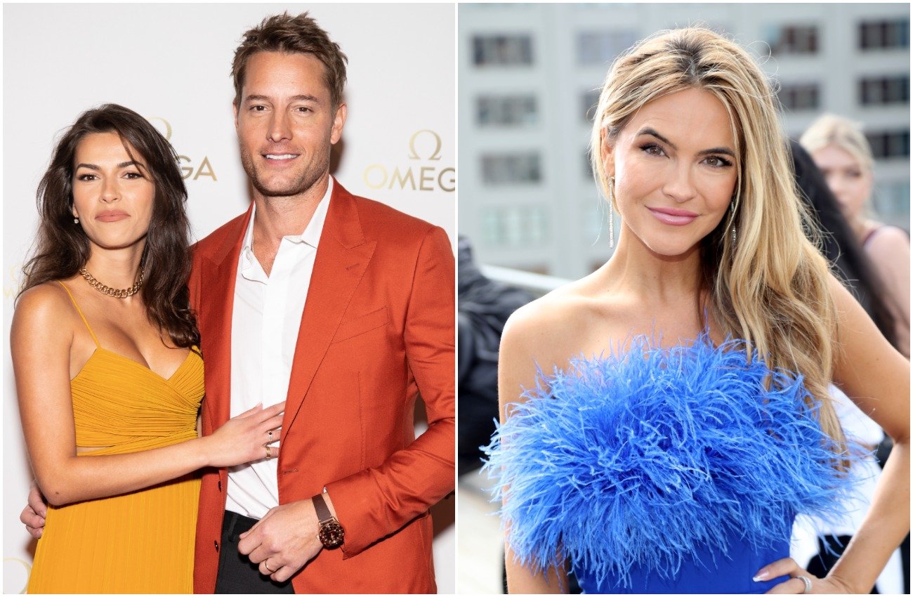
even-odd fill
[{"label": "man's ringed hand beside his wristwatch, in front of black trousers", "polygon": [[260,565],[260,574],[288,581],[323,549],[317,537],[319,522],[310,499],[279,505],[241,533],[237,550]]}]

